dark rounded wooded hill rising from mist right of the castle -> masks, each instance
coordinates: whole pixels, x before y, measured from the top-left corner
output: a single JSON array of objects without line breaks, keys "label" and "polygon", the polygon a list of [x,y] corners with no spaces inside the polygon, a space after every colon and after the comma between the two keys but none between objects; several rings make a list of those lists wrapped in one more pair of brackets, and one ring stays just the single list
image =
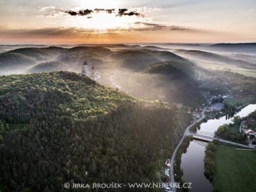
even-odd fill
[{"label": "dark rounded wooded hill rising from mist right of the castle", "polygon": [[[154,81],[145,84],[151,86],[151,90],[159,84],[165,95],[164,100],[168,102],[180,102],[188,106],[196,106],[204,102],[199,82],[195,80],[195,68],[188,61],[169,60],[154,63],[143,72],[155,74]],[[162,83],[157,83],[157,79]]]}]

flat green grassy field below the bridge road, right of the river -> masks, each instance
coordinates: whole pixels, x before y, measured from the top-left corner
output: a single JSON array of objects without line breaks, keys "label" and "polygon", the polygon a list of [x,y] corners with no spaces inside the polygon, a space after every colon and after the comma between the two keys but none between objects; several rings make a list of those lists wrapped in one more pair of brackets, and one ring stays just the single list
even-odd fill
[{"label": "flat green grassy field below the bridge road, right of the river", "polygon": [[218,145],[214,159],[214,186],[221,192],[255,191],[256,152]]}]

